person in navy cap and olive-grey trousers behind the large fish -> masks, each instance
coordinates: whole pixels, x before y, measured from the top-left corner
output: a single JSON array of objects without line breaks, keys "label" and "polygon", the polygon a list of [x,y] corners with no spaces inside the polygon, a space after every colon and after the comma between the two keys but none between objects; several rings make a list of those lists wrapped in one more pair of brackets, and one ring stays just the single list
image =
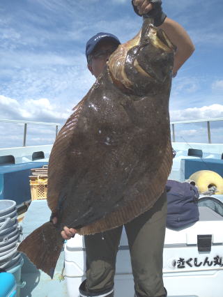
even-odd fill
[{"label": "person in navy cap and olive-grey trousers behind the large fish", "polygon": [[[167,33],[176,45],[173,77],[194,52],[194,45],[180,24],[162,12],[162,1],[132,0],[138,15],[154,17],[155,26]],[[96,78],[102,73],[109,56],[120,41],[110,33],[98,33],[86,44],[88,68]],[[167,296],[162,281],[162,250],[164,245],[167,215],[166,193],[145,213],[125,224],[128,236],[135,296]],[[53,219],[56,222],[56,218]],[[80,296],[114,296],[114,274],[116,253],[121,238],[122,226],[94,235],[85,236],[86,280],[81,284]],[[75,236],[76,230],[64,227],[64,239]],[[128,296],[126,296],[128,297]]]}]

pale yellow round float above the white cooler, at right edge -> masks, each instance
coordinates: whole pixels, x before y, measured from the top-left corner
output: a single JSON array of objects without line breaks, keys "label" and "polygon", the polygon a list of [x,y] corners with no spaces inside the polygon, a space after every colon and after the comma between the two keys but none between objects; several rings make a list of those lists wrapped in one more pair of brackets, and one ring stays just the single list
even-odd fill
[{"label": "pale yellow round float above the white cooler, at right edge", "polygon": [[195,182],[200,193],[207,192],[210,187],[215,185],[217,187],[216,194],[223,194],[223,178],[217,172],[200,170],[199,172],[194,172],[190,176],[190,180]]}]

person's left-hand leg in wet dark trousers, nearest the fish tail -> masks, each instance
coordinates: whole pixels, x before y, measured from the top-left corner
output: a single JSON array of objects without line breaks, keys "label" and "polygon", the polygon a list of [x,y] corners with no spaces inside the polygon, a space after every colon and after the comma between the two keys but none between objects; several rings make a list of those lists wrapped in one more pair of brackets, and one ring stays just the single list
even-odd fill
[{"label": "person's left-hand leg in wet dark trousers, nearest the fish tail", "polygon": [[84,236],[86,282],[79,287],[81,296],[113,296],[116,254],[122,229],[121,226],[103,233]]}]

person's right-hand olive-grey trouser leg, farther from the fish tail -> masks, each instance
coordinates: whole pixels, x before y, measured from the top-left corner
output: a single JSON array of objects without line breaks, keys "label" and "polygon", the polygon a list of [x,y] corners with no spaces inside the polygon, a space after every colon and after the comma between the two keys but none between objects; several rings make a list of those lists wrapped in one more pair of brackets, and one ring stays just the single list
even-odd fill
[{"label": "person's right-hand olive-grey trouser leg, farther from the fish tail", "polygon": [[162,251],[167,218],[167,195],[153,208],[125,224],[137,297],[164,297]]}]

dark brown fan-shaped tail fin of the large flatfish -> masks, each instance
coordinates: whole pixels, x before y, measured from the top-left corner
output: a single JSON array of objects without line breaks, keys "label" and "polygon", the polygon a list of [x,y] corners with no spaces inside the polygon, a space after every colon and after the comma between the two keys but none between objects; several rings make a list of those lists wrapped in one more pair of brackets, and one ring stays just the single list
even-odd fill
[{"label": "dark brown fan-shaped tail fin of the large flatfish", "polygon": [[17,250],[26,254],[38,269],[53,278],[62,247],[63,238],[60,231],[52,222],[46,222],[29,234]]}]

